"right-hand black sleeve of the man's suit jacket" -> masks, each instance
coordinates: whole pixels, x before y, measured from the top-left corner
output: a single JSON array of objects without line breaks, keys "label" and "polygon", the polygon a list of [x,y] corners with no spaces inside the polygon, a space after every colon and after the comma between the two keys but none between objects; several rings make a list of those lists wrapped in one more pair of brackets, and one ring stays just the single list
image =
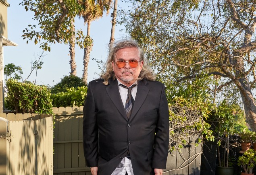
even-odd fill
[{"label": "right-hand black sleeve of the man's suit jacket", "polygon": [[155,132],[156,135],[152,167],[157,169],[165,169],[169,150],[169,108],[164,92],[164,86],[162,86],[158,110],[158,122]]}]

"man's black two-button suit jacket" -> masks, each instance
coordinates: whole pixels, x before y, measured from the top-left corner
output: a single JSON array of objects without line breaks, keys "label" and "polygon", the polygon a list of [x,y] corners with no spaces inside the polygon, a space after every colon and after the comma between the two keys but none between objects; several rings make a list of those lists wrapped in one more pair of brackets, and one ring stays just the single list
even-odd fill
[{"label": "man's black two-button suit jacket", "polygon": [[164,85],[141,80],[129,121],[117,80],[89,82],[83,107],[83,149],[88,167],[111,175],[129,149],[134,175],[165,169],[169,146],[169,110]]}]

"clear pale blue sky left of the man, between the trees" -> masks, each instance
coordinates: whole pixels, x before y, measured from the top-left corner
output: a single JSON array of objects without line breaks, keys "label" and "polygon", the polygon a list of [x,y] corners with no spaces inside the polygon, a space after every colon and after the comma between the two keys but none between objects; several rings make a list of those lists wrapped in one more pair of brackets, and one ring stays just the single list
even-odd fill
[{"label": "clear pale blue sky left of the man, between the trees", "polygon": [[[27,78],[31,71],[31,62],[37,58],[37,54],[42,53],[42,49],[39,48],[39,44],[35,45],[33,42],[26,43],[23,40],[22,31],[28,27],[29,24],[33,25],[37,22],[32,20],[33,13],[24,9],[19,5],[21,0],[8,0],[10,7],[8,7],[8,39],[17,43],[17,47],[5,46],[4,47],[4,65],[13,63],[16,66],[21,66],[23,70],[23,79]],[[110,11],[110,13],[112,10]],[[111,17],[110,14],[106,16],[104,14],[102,19],[92,22],[91,25],[91,37],[94,40],[93,50],[90,55],[89,70],[88,70],[88,82],[98,78],[97,73],[100,72],[97,63],[92,60],[96,58],[98,60],[106,61],[108,52],[108,42],[110,39],[111,31]],[[86,33],[86,26],[83,25],[83,19],[75,19],[76,29],[82,29]],[[115,39],[121,39],[127,37],[123,26],[117,25],[115,32]],[[69,75],[69,45],[65,44],[52,44],[50,52],[44,52],[43,66],[41,70],[37,71],[36,84],[45,84],[53,86],[60,82],[60,78],[65,75]],[[83,49],[75,47],[75,60],[77,64],[77,76],[82,77],[83,74]],[[35,81],[35,72],[28,79],[29,81]]]}]

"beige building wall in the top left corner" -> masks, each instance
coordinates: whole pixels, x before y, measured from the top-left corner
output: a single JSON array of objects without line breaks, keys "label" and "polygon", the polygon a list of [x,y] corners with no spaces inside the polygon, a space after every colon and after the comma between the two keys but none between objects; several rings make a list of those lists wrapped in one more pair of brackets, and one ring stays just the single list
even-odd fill
[{"label": "beige building wall in the top left corner", "polygon": [[8,38],[7,34],[7,7],[10,6],[6,0],[0,0],[0,35]]}]

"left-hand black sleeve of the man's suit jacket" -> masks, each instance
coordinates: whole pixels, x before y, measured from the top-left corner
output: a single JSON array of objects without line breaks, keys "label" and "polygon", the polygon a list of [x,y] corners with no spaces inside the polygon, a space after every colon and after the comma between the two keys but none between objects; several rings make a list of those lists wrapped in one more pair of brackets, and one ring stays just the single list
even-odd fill
[{"label": "left-hand black sleeve of the man's suit jacket", "polygon": [[83,107],[83,151],[87,167],[98,166],[98,126],[97,109],[89,82]]}]

